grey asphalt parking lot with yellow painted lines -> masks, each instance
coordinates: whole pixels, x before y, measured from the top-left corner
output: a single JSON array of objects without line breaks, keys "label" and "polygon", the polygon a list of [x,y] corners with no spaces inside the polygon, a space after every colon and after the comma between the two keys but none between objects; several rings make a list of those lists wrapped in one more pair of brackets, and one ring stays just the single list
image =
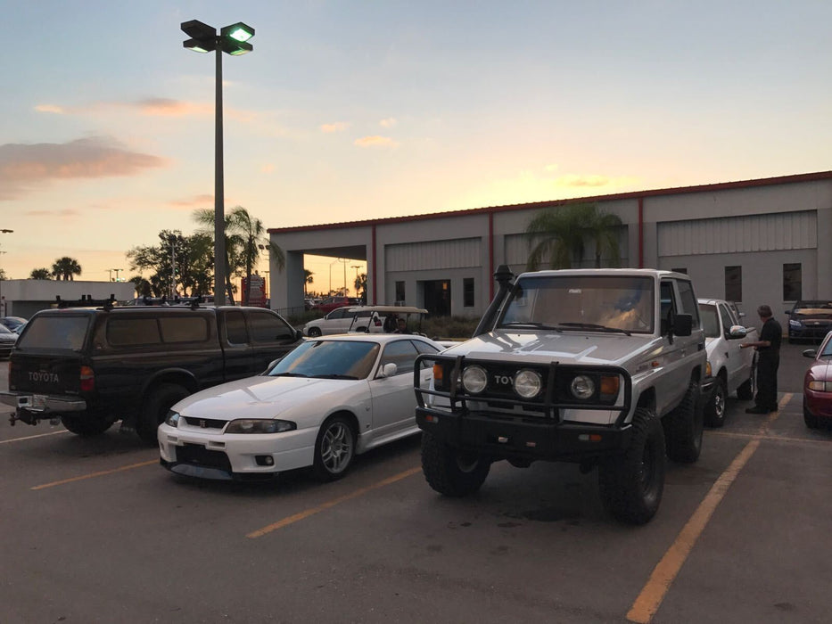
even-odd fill
[{"label": "grey asphalt parking lot with yellow painted lines", "polygon": [[449,499],[414,438],[328,485],[202,482],[118,426],[81,439],[4,418],[0,620],[828,621],[832,431],[803,424],[804,348],[784,344],[778,413],[729,399],[636,528],[571,464],[494,464]]}]

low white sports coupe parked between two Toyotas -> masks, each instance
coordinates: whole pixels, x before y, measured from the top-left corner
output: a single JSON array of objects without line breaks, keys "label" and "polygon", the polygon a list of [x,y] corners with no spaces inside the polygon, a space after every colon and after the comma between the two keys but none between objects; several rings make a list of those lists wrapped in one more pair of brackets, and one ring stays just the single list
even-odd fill
[{"label": "low white sports coupe parked between two Toyotas", "polygon": [[[207,479],[272,478],[312,466],[340,479],[353,458],[418,433],[422,336],[351,334],[302,342],[266,374],[203,390],[171,407],[158,430],[161,464]],[[420,379],[429,384],[432,368]]]}]

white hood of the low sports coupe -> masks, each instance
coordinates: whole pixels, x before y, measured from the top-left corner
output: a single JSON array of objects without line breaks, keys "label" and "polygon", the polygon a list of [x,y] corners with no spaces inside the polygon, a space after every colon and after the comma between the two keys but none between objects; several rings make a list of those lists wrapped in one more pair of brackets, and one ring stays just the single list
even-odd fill
[{"label": "white hood of the low sports coupe", "polygon": [[[173,410],[184,416],[216,420],[274,418],[293,407],[325,400],[334,394],[340,403],[350,387],[364,380],[309,379],[307,377],[248,377],[223,383],[183,398]],[[332,401],[329,401],[332,403]]]}]

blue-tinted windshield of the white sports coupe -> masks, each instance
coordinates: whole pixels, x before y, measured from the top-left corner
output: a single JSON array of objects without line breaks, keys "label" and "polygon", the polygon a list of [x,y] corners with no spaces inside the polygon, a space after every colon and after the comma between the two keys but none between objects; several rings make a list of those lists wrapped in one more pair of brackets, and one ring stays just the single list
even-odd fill
[{"label": "blue-tinted windshield of the white sports coupe", "polygon": [[370,341],[303,342],[278,362],[269,376],[364,379],[378,356],[378,343]]}]

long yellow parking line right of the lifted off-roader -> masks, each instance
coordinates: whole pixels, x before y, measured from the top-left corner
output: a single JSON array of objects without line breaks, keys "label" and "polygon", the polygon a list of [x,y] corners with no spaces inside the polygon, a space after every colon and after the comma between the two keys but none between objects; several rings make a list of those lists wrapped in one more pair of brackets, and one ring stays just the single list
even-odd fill
[{"label": "long yellow parking line right of the lifted off-roader", "polygon": [[[779,408],[782,409],[791,400],[792,394],[786,394],[780,399]],[[717,505],[720,504],[725,494],[728,492],[731,483],[737,479],[737,475],[746,465],[754,451],[760,446],[761,440],[765,437],[764,434],[769,429],[769,425],[773,423],[779,415],[778,412],[773,412],[769,415],[764,423],[760,425],[760,430],[754,438],[746,444],[731,462],[729,467],[722,472],[719,479],[714,482],[711,489],[705,495],[703,501],[696,507],[696,511],[690,517],[690,520],[680,531],[676,540],[671,544],[671,547],[662,557],[653,569],[650,579],[647,580],[641,593],[636,598],[636,601],[630,607],[627,613],[627,620],[631,622],[638,622],[638,624],[648,624],[653,620],[655,612],[658,611],[659,606],[664,600],[664,595],[679,574],[682,565],[688,559],[688,554],[696,544],[696,540],[702,535],[705,526],[711,519],[713,512]]]}]

